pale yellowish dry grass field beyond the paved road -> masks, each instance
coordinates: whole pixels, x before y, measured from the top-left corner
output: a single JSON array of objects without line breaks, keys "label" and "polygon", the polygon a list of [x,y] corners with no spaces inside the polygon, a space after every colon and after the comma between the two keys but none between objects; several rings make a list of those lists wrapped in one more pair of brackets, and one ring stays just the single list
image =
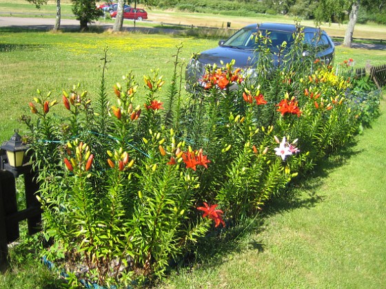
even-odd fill
[{"label": "pale yellowish dry grass field beyond the paved road", "polygon": [[[183,24],[194,26],[207,26],[212,28],[226,28],[227,22],[231,23],[231,28],[239,29],[250,23],[261,22],[280,22],[280,23],[294,23],[295,17],[273,15],[273,14],[243,14],[243,16],[236,15],[224,15],[216,14],[211,11],[207,13],[192,13],[181,12],[178,10],[159,10],[156,8],[139,5],[145,7],[148,11],[149,21],[137,21],[138,26],[154,26],[159,23],[166,24]],[[13,12],[13,16],[17,17],[52,17],[56,14],[56,1],[48,1],[47,5],[41,6],[40,10],[37,10],[33,5],[25,0],[7,1],[0,0],[0,16],[10,16],[10,12]],[[16,13],[16,14],[15,14]],[[21,13],[21,14],[19,14]],[[74,19],[71,10],[71,1],[61,1],[61,14],[62,18]],[[113,23],[110,21],[101,21],[104,23]],[[125,21],[125,23],[128,23]],[[315,23],[312,20],[301,20],[303,25],[314,26]],[[339,23],[322,23],[321,28],[327,31],[332,36],[344,36],[347,24]],[[354,30],[354,38],[365,39],[386,39],[386,25],[378,25],[375,23],[356,24]]]}]

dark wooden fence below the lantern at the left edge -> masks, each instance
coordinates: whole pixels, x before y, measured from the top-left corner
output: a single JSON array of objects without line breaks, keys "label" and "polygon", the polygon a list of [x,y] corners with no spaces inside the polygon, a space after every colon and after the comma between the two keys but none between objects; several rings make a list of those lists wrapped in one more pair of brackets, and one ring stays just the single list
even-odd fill
[{"label": "dark wooden fence below the lantern at the left edge", "polygon": [[[34,179],[30,164],[13,169],[1,156],[0,151],[0,270],[8,266],[8,244],[19,236],[19,222],[27,220],[28,234],[41,230],[41,208],[36,193],[39,184]],[[16,178],[24,177],[26,208],[18,211]]]}]

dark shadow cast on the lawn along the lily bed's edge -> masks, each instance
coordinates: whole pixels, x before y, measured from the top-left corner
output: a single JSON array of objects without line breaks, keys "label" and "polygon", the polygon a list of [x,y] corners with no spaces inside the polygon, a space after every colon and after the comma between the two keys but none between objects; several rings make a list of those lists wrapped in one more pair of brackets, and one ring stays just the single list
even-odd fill
[{"label": "dark shadow cast on the lawn along the lily bed's edge", "polygon": [[[318,162],[314,171],[300,177],[282,194],[274,197],[264,206],[263,212],[253,219],[243,220],[240,224],[227,226],[225,229],[214,231],[203,238],[196,251],[191,252],[175,264],[171,270],[191,272],[193,268],[216,268],[226,261],[232,253],[252,250],[263,253],[265,244],[259,239],[265,230],[265,219],[271,215],[293,211],[298,208],[313,208],[325,200],[324,195],[316,191],[323,185],[329,173],[342,167],[347,161],[362,153],[363,150],[354,147],[354,141],[345,149],[332,153],[328,158]],[[177,273],[178,274],[178,273]]]}]

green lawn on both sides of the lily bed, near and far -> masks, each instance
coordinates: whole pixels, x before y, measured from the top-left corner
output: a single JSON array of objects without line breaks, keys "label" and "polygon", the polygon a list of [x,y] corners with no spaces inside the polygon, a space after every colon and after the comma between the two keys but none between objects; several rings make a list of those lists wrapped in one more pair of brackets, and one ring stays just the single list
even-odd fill
[{"label": "green lawn on both sides of the lily bed, near and far", "polygon": [[[11,32],[0,29],[0,140],[8,140],[17,118],[30,114],[28,102],[36,89],[52,90],[60,100],[62,89],[81,82],[95,98],[101,81],[103,49],[108,46],[107,86],[132,70],[142,86],[143,74],[159,67],[160,75],[170,81],[176,45],[184,43],[184,60],[192,52],[215,47],[217,40],[156,34],[108,32]],[[367,61],[384,64],[386,52],[336,47],[336,64],[354,58],[356,67]],[[144,91],[140,91],[140,93]],[[110,92],[112,96],[112,92]],[[385,105],[383,105],[385,112]],[[347,159],[336,156],[325,164],[318,178],[310,179],[292,200],[270,204],[265,224],[258,234],[249,229],[238,232],[237,242],[225,242],[193,274],[185,269],[172,273],[161,286],[170,288],[283,288],[343,287],[369,284],[378,288],[385,283],[385,158],[381,157],[385,135],[385,114],[365,131],[358,146],[348,151]],[[345,166],[329,168],[344,162]],[[382,219],[383,218],[383,219]],[[232,233],[229,233],[232,235]],[[228,236],[230,236],[228,235]],[[226,236],[224,237],[226,240]],[[232,239],[232,238],[228,238]],[[216,244],[214,244],[216,246]],[[210,256],[207,254],[206,256]],[[212,259],[212,261],[210,261]],[[55,277],[28,257],[0,277],[0,288],[55,288]],[[202,260],[200,261],[202,262]],[[375,265],[373,265],[373,262]],[[51,285],[50,285],[51,284]],[[359,286],[360,287],[360,286]],[[368,287],[368,286],[367,286]]]}]

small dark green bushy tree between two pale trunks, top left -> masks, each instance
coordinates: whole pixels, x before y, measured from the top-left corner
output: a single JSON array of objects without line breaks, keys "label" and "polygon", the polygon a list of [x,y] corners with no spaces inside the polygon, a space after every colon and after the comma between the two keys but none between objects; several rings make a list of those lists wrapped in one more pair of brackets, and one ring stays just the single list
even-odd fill
[{"label": "small dark green bushy tree between two pale trunks, top left", "polygon": [[88,23],[99,19],[103,14],[96,9],[95,0],[72,0],[72,12],[81,23],[81,31],[87,31]]}]

